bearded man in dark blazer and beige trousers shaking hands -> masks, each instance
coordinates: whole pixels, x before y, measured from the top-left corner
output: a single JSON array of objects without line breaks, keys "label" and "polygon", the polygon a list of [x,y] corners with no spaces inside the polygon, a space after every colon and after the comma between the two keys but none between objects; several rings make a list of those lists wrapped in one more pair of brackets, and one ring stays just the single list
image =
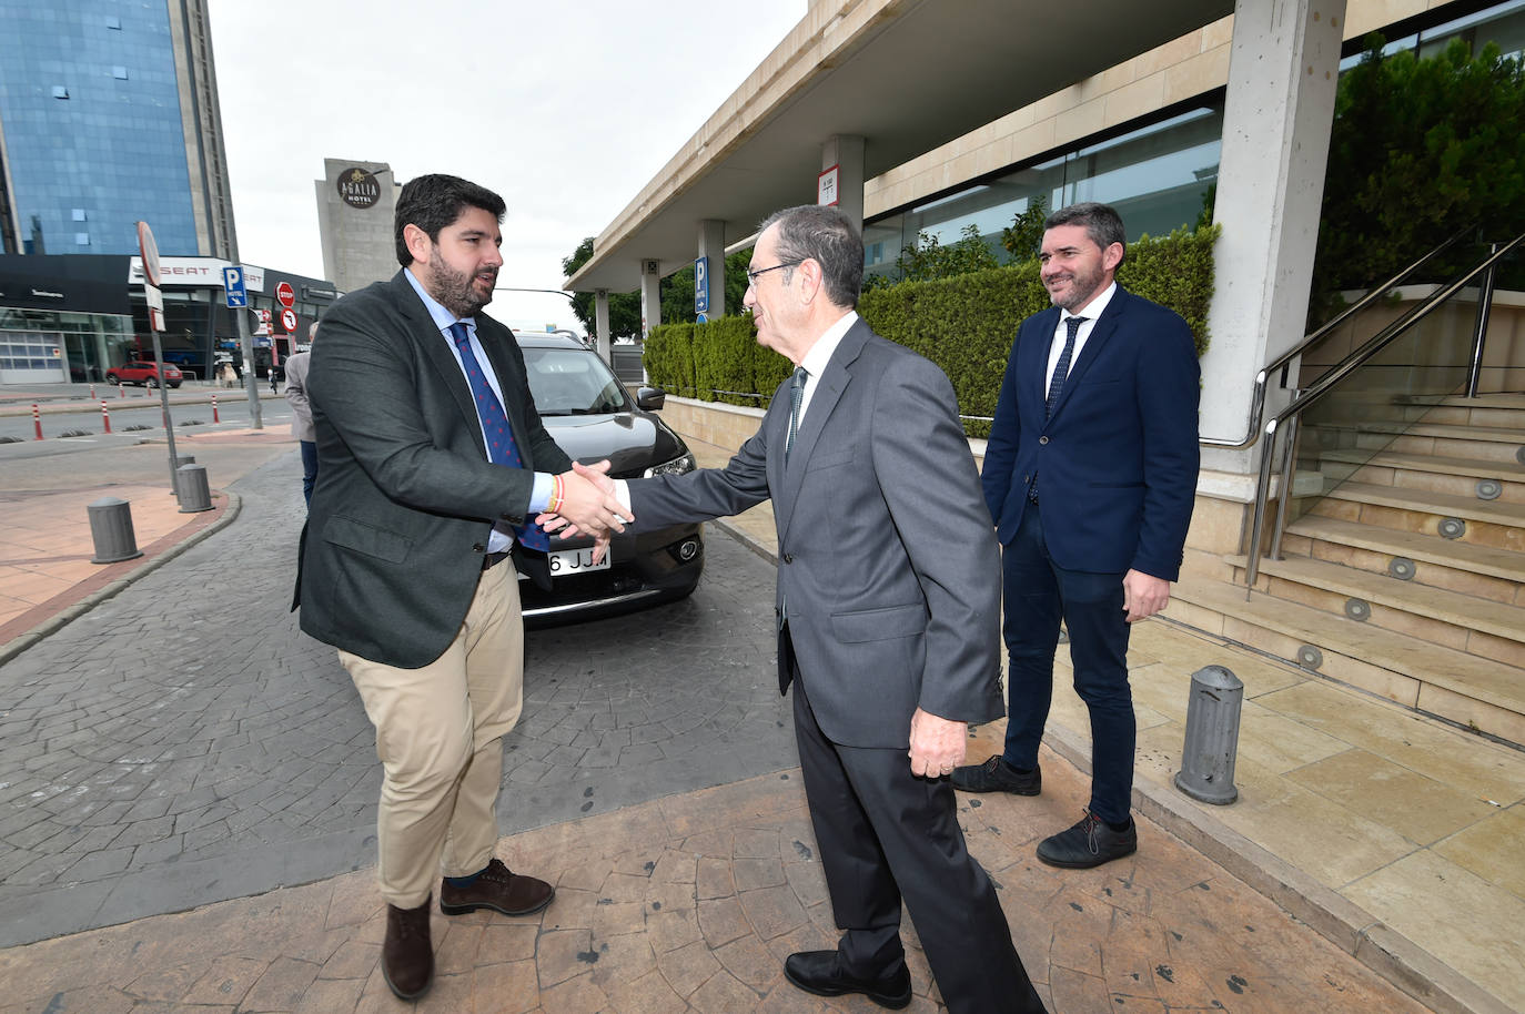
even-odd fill
[{"label": "bearded man in dark blazer and beige trousers shaking hands", "polygon": [[396,200],[403,270],[329,310],[307,377],[319,470],[302,630],[339,648],[377,729],[381,970],[403,999],[433,979],[441,871],[445,915],[551,904],[551,884],[493,857],[500,738],[523,701],[518,582],[500,564],[546,573],[546,535],[526,521],[537,511],[602,534],[622,509],[570,471],[514,334],[480,313],[503,210],[458,177],[410,180]]}]

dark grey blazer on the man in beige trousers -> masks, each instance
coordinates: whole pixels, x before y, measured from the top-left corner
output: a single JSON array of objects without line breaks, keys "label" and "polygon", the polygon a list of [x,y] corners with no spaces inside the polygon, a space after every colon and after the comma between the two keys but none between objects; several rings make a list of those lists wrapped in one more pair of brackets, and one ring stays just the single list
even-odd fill
[{"label": "dark grey blazer on the man in beige trousers", "polygon": [[534,470],[570,468],[535,413],[512,331],[485,314],[476,323],[525,468],[486,459],[471,389],[401,271],[339,300],[313,349],[302,630],[372,662],[438,659],[476,595],[494,521],[525,520]]}]

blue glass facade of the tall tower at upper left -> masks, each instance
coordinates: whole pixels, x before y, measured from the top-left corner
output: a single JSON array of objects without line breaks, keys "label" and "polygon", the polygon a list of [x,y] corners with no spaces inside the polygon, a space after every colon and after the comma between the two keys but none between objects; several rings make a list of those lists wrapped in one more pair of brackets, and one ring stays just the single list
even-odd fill
[{"label": "blue glass facade of the tall tower at upper left", "polygon": [[166,256],[215,253],[171,17],[166,0],[0,0],[5,252],[136,253],[143,220]]}]

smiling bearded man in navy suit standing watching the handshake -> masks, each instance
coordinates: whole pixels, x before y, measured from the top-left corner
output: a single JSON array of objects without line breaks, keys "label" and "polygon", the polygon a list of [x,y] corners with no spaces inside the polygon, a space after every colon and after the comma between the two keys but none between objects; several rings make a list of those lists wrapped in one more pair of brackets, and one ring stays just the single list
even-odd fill
[{"label": "smiling bearded man in navy suit standing watching the handshake", "polygon": [[1006,744],[959,767],[953,785],[1039,794],[1063,621],[1090,714],[1092,791],[1080,823],[1045,839],[1039,858],[1090,868],[1138,849],[1128,624],[1162,610],[1180,573],[1200,371],[1186,322],[1113,281],[1127,255],[1116,210],[1072,204],[1043,229],[1054,306],[1017,329],[981,476],[1003,546]]}]

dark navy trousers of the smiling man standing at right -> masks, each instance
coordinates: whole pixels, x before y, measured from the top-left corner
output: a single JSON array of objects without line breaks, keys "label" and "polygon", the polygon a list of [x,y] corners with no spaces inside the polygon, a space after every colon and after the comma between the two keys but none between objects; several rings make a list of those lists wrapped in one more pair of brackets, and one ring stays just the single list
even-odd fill
[{"label": "dark navy trousers of the smiling man standing at right", "polygon": [[1031,769],[1054,698],[1060,621],[1069,630],[1075,692],[1090,712],[1090,811],[1128,819],[1138,726],[1128,688],[1122,575],[1066,570],[1049,557],[1035,503],[1002,552],[1005,586],[1006,764]]}]

